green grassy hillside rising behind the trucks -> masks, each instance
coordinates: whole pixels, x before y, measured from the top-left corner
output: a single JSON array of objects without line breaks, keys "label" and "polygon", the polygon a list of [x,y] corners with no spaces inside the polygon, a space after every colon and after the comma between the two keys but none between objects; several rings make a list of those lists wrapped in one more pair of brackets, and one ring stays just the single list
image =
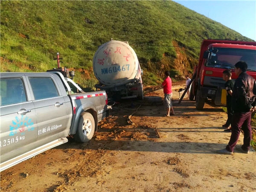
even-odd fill
[{"label": "green grassy hillside rising behind the trucks", "polygon": [[128,41],[144,71],[144,84],[192,73],[205,38],[252,41],[173,1],[0,1],[0,71],[76,70],[75,81],[93,87],[97,47]]}]

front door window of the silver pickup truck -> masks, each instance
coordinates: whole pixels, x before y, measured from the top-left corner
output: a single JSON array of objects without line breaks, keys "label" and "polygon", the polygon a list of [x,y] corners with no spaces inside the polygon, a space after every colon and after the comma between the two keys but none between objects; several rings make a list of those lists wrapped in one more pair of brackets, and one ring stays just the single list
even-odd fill
[{"label": "front door window of the silver pickup truck", "polygon": [[26,93],[21,78],[8,78],[0,80],[0,106],[26,101]]}]

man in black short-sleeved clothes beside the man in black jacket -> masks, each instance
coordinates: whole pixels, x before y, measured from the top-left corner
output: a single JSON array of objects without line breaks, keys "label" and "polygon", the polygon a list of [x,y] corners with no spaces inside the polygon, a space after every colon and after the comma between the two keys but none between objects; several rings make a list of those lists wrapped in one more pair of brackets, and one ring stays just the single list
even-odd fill
[{"label": "man in black short-sleeved clothes beside the man in black jacket", "polygon": [[223,128],[225,128],[225,132],[231,132],[231,122],[232,122],[232,110],[231,110],[231,104],[232,104],[232,90],[235,84],[235,80],[231,79],[232,73],[230,70],[224,70],[222,72],[222,79],[225,82],[225,89],[227,91],[227,99],[226,99],[226,103],[227,103],[227,121],[224,125],[222,125]]}]

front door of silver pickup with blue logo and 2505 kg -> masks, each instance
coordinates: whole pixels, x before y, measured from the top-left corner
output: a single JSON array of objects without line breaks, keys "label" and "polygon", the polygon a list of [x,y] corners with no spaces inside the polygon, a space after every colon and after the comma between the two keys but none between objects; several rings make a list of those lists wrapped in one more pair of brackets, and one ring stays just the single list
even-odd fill
[{"label": "front door of silver pickup with blue logo and 2505 kg", "polygon": [[0,79],[1,163],[23,154],[37,140],[37,118],[22,75]]}]

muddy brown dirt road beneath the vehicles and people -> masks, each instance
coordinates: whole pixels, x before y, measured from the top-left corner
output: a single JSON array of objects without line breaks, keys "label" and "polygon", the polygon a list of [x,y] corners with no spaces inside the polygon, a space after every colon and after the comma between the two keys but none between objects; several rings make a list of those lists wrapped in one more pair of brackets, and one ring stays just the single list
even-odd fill
[{"label": "muddy brown dirt road beneath the vehicles and people", "polygon": [[[178,90],[180,85],[174,86]],[[163,90],[148,93],[163,98]],[[113,106],[89,143],[48,150],[1,172],[1,191],[64,192],[255,192],[256,153],[221,155],[230,133],[220,107],[174,91],[175,116],[161,102],[127,101]],[[129,115],[131,121],[127,121]],[[238,145],[242,144],[243,135]]]}]

